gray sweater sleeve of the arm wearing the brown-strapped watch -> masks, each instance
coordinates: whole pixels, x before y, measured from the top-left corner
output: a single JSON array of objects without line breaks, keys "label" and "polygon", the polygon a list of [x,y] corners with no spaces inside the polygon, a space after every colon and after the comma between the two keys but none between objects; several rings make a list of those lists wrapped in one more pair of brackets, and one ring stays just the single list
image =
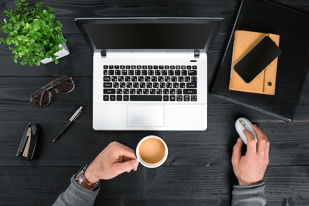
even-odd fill
[{"label": "gray sweater sleeve of the arm wearing the brown-strapped watch", "polygon": [[71,184],[59,195],[53,206],[93,206],[100,187],[95,191],[83,188],[75,180],[76,174],[71,178]]}]

